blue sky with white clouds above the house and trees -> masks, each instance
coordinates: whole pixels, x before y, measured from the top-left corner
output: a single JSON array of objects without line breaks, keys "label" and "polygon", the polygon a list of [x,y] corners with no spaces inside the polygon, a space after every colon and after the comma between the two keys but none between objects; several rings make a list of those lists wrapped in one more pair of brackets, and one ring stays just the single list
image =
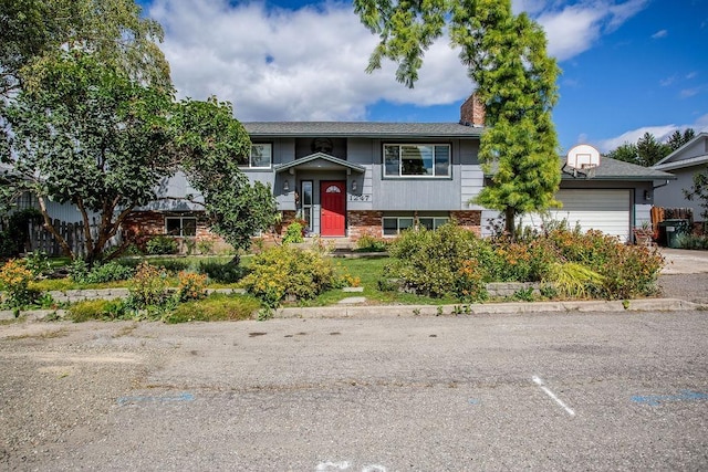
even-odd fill
[{"label": "blue sky with white clouds above the house and trees", "polygon": [[[473,85],[445,39],[408,90],[366,74],[376,38],[348,2],[142,1],[165,28],[180,96],[216,94],[240,120],[456,122]],[[562,151],[645,132],[708,130],[708,0],[514,0],[559,61]]]}]

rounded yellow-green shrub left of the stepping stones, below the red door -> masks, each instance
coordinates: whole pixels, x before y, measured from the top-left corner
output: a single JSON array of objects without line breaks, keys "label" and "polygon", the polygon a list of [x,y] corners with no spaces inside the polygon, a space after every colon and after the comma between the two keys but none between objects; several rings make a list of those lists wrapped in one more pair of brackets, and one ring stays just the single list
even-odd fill
[{"label": "rounded yellow-green shrub left of the stepping stones, below the red door", "polygon": [[288,244],[253,256],[251,273],[240,285],[270,307],[284,298],[310,300],[343,281],[332,259],[315,248],[300,250]]}]

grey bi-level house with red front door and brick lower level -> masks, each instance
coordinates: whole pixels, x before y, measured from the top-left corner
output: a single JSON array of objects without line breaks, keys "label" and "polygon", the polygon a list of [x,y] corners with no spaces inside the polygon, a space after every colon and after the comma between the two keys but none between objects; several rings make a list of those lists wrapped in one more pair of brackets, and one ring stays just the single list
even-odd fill
[{"label": "grey bi-level house with red front door and brick lower level", "polygon": [[[252,149],[242,170],[252,181],[270,183],[283,227],[300,218],[310,234],[352,241],[364,233],[395,237],[449,219],[485,233],[498,212],[470,202],[489,177],[478,160],[483,122],[483,107],[472,95],[454,123],[243,123]],[[554,217],[625,241],[649,218],[654,182],[673,178],[606,158],[592,172],[568,164],[559,158],[564,208]],[[167,196],[189,192],[179,176],[166,187]],[[164,199],[144,210],[126,228],[210,237],[198,204]]]}]

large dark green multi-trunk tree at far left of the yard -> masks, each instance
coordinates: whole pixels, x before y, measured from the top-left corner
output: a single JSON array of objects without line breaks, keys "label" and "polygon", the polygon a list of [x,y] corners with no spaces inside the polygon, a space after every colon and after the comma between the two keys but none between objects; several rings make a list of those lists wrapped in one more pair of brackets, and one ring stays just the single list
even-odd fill
[{"label": "large dark green multi-trunk tree at far left of the yard", "polygon": [[[167,146],[171,93],[143,86],[81,51],[52,62],[38,86],[20,92],[7,109],[14,157],[3,183],[38,197],[44,227],[71,256],[46,201],[75,204],[92,263],[133,209],[155,199],[174,168]],[[95,231],[92,212],[100,214]]]}]

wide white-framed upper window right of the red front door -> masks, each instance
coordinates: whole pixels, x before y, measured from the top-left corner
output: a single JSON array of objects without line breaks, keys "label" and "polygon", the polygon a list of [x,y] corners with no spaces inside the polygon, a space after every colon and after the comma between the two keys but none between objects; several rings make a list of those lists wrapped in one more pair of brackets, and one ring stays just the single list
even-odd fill
[{"label": "wide white-framed upper window right of the red front door", "polygon": [[450,177],[450,145],[384,145],[385,177]]}]

